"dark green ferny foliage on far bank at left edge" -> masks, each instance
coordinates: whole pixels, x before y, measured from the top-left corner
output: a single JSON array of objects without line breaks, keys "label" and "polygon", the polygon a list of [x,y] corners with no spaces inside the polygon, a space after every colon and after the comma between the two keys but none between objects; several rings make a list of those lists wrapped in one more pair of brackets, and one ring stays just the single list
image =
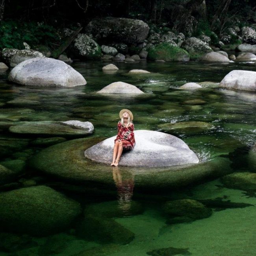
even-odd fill
[{"label": "dark green ferny foliage on far bank at left edge", "polygon": [[0,49],[24,49],[23,42],[32,48],[36,45],[55,48],[60,42],[60,37],[54,27],[43,23],[0,21]]}]

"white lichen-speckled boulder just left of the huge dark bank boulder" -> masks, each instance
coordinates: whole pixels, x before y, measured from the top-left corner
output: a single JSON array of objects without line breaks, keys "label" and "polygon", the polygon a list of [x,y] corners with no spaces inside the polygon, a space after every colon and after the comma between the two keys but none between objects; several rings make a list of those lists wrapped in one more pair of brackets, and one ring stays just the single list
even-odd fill
[{"label": "white lichen-speckled boulder just left of the huge dark bank boulder", "polygon": [[88,35],[78,34],[70,45],[70,50],[75,58],[100,59],[100,46]]}]

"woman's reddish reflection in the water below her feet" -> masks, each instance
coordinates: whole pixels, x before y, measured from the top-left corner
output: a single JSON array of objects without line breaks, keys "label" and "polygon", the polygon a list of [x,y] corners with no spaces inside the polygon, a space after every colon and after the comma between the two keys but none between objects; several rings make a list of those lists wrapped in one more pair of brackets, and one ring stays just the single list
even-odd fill
[{"label": "woman's reddish reflection in the water below her feet", "polygon": [[113,167],[113,180],[117,187],[119,207],[127,212],[131,208],[132,195],[134,189],[134,174],[126,173],[125,178],[122,177],[119,167]]}]

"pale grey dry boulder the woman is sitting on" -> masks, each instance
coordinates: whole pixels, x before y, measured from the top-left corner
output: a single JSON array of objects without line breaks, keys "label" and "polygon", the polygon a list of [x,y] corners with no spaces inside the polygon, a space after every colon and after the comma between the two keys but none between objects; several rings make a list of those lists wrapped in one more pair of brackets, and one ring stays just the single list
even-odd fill
[{"label": "pale grey dry boulder the woman is sitting on", "polygon": [[[186,143],[173,135],[147,130],[137,130],[134,134],[134,150],[122,156],[120,165],[160,167],[199,161]],[[84,152],[85,157],[100,163],[110,163],[115,137],[88,148]]]}]

